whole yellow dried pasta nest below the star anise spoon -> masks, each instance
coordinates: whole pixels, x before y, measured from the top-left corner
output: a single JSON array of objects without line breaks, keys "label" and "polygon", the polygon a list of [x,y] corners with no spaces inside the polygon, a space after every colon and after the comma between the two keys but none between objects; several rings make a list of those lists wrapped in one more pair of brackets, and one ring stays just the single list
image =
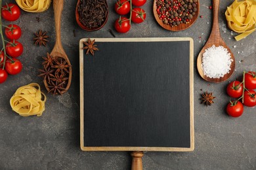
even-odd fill
[{"label": "whole yellow dried pasta nest below the star anise spoon", "polygon": [[41,92],[39,84],[32,83],[18,88],[11,97],[10,104],[12,110],[20,116],[41,116],[45,110],[46,99],[47,97]]}]

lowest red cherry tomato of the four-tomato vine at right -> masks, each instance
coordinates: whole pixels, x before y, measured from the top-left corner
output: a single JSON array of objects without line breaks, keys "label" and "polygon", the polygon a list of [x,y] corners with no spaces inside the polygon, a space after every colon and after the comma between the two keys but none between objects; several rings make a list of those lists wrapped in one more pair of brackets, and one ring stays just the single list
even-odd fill
[{"label": "lowest red cherry tomato of the four-tomato vine at right", "polygon": [[240,101],[230,101],[226,106],[226,112],[234,118],[239,117],[244,112],[244,105]]}]

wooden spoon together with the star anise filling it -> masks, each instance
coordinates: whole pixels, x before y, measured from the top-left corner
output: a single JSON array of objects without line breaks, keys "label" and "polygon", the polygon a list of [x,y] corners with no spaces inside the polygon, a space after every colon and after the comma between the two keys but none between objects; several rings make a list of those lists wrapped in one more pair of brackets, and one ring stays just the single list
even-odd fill
[{"label": "wooden spoon together with the star anise filling it", "polygon": [[[45,76],[43,82],[48,92],[63,94],[70,88],[72,80],[72,67],[60,39],[60,18],[63,10],[63,0],[53,0],[56,42],[51,54],[47,54],[44,66],[48,65],[54,71]],[[51,65],[51,66],[49,66]],[[47,78],[48,77],[48,78]]]}]

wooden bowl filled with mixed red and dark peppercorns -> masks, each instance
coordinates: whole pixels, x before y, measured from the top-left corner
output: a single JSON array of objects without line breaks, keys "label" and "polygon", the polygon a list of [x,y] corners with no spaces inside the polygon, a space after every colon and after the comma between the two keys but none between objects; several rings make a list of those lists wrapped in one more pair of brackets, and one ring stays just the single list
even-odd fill
[{"label": "wooden bowl filled with mixed red and dark peppercorns", "polygon": [[154,0],[153,5],[156,21],[170,31],[182,31],[194,24],[199,8],[199,0]]}]

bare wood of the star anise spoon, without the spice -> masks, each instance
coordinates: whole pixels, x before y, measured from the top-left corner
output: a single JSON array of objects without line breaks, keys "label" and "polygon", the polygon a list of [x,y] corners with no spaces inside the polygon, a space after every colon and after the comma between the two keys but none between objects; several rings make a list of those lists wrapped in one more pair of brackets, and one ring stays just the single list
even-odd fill
[{"label": "bare wood of the star anise spoon, without the spice", "polygon": [[[64,0],[53,0],[53,10],[54,10],[54,20],[55,20],[55,30],[56,30],[56,42],[54,44],[53,50],[50,54],[53,58],[63,58],[67,61],[68,65],[71,65],[70,60],[68,59],[68,56],[66,52],[64,51],[62,44],[61,44],[61,38],[60,38],[60,18],[63,10]],[[63,90],[62,93],[65,93],[70,88],[72,80],[72,67],[69,67],[69,76],[68,76],[68,84],[66,86],[66,90]],[[49,92],[49,85],[47,84],[47,80],[44,81],[45,88]]]}]

